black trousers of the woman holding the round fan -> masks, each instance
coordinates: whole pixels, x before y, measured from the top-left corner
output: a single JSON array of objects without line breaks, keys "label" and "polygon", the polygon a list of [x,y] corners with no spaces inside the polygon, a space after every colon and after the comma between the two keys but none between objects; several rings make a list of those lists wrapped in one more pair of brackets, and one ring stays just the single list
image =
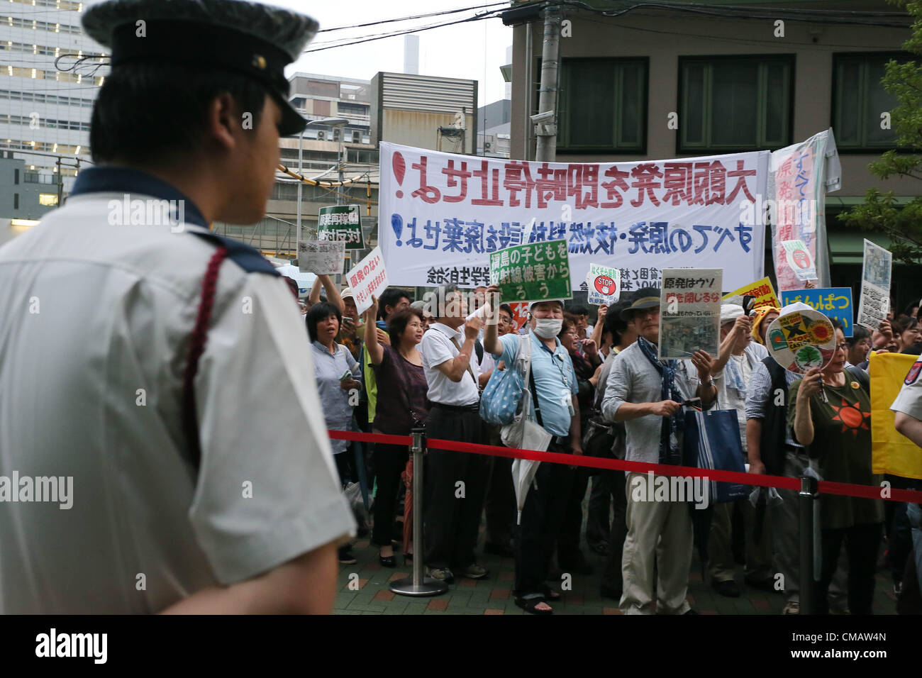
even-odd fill
[{"label": "black trousers of the woman holding the round fan", "polygon": [[816,585],[814,609],[817,614],[829,613],[827,594],[833,580],[839,550],[845,539],[848,556],[848,609],[852,614],[870,614],[874,599],[874,569],[881,544],[881,524],[855,525],[851,528],[822,530],[822,569]]}]

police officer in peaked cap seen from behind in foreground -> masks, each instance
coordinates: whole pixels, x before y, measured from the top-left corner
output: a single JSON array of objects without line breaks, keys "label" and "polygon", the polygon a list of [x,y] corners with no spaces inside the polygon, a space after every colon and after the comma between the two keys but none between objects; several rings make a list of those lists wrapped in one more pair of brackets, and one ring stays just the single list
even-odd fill
[{"label": "police officer in peaked cap seen from behind in foreground", "polygon": [[263,217],[317,24],[234,0],[83,24],[112,54],[96,166],[0,249],[0,613],[329,613],[355,523],[301,315],[208,231]]}]

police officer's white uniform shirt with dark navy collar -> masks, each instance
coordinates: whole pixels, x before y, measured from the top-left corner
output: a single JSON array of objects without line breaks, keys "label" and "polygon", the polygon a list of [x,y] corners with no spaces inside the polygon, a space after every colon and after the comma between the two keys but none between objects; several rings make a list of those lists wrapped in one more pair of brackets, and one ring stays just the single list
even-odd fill
[{"label": "police officer's white uniform shirt with dark navy collar", "polygon": [[[185,199],[183,232],[111,225],[128,193]],[[69,509],[0,499],[0,613],[154,613],[354,529],[298,307],[233,241],[195,379],[197,472],[187,460],[183,370],[216,249],[195,223],[169,184],[92,168],[0,248],[0,487],[73,478]]]}]

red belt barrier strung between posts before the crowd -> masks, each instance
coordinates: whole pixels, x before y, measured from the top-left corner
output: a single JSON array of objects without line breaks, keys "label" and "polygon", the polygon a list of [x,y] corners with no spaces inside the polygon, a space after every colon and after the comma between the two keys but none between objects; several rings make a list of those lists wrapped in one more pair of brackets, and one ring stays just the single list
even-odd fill
[{"label": "red belt barrier strung between posts before the crowd", "polygon": [[[384,443],[386,445],[409,445],[409,435],[362,434],[353,431],[327,431],[335,440],[358,440],[363,443]],[[739,482],[743,485],[759,485],[760,487],[776,487],[782,490],[799,490],[800,479],[785,476],[770,476],[761,473],[740,473],[735,470],[697,469],[691,466],[670,466],[668,464],[649,464],[644,461],[625,461],[622,459],[609,459],[602,457],[576,457],[560,452],[538,452],[532,449],[518,449],[516,447],[497,447],[491,445],[477,445],[475,443],[460,443],[456,440],[440,440],[426,438],[428,449],[443,449],[454,452],[468,452],[477,455],[491,455],[492,457],[506,457],[514,459],[531,459],[532,461],[550,461],[552,464],[566,464],[568,466],[584,466],[592,469],[623,470],[634,473],[647,473],[653,471],[657,475],[666,476],[691,476],[692,478],[706,478],[716,482]],[[840,494],[843,496],[856,496],[866,499],[889,499],[895,502],[913,502],[922,504],[922,492],[916,490],[890,489],[889,496],[881,496],[883,488],[875,485],[857,485],[851,482],[819,482],[820,494]]]}]

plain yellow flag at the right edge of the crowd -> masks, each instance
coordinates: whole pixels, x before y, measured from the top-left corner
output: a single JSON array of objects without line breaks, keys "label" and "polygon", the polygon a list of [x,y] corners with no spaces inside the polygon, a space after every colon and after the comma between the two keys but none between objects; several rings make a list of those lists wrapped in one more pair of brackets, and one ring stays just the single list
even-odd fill
[{"label": "plain yellow flag at the right edge of the crowd", "polygon": [[922,454],[915,443],[896,430],[896,412],[890,409],[917,359],[916,355],[902,353],[870,354],[871,467],[875,473],[922,479]]}]

